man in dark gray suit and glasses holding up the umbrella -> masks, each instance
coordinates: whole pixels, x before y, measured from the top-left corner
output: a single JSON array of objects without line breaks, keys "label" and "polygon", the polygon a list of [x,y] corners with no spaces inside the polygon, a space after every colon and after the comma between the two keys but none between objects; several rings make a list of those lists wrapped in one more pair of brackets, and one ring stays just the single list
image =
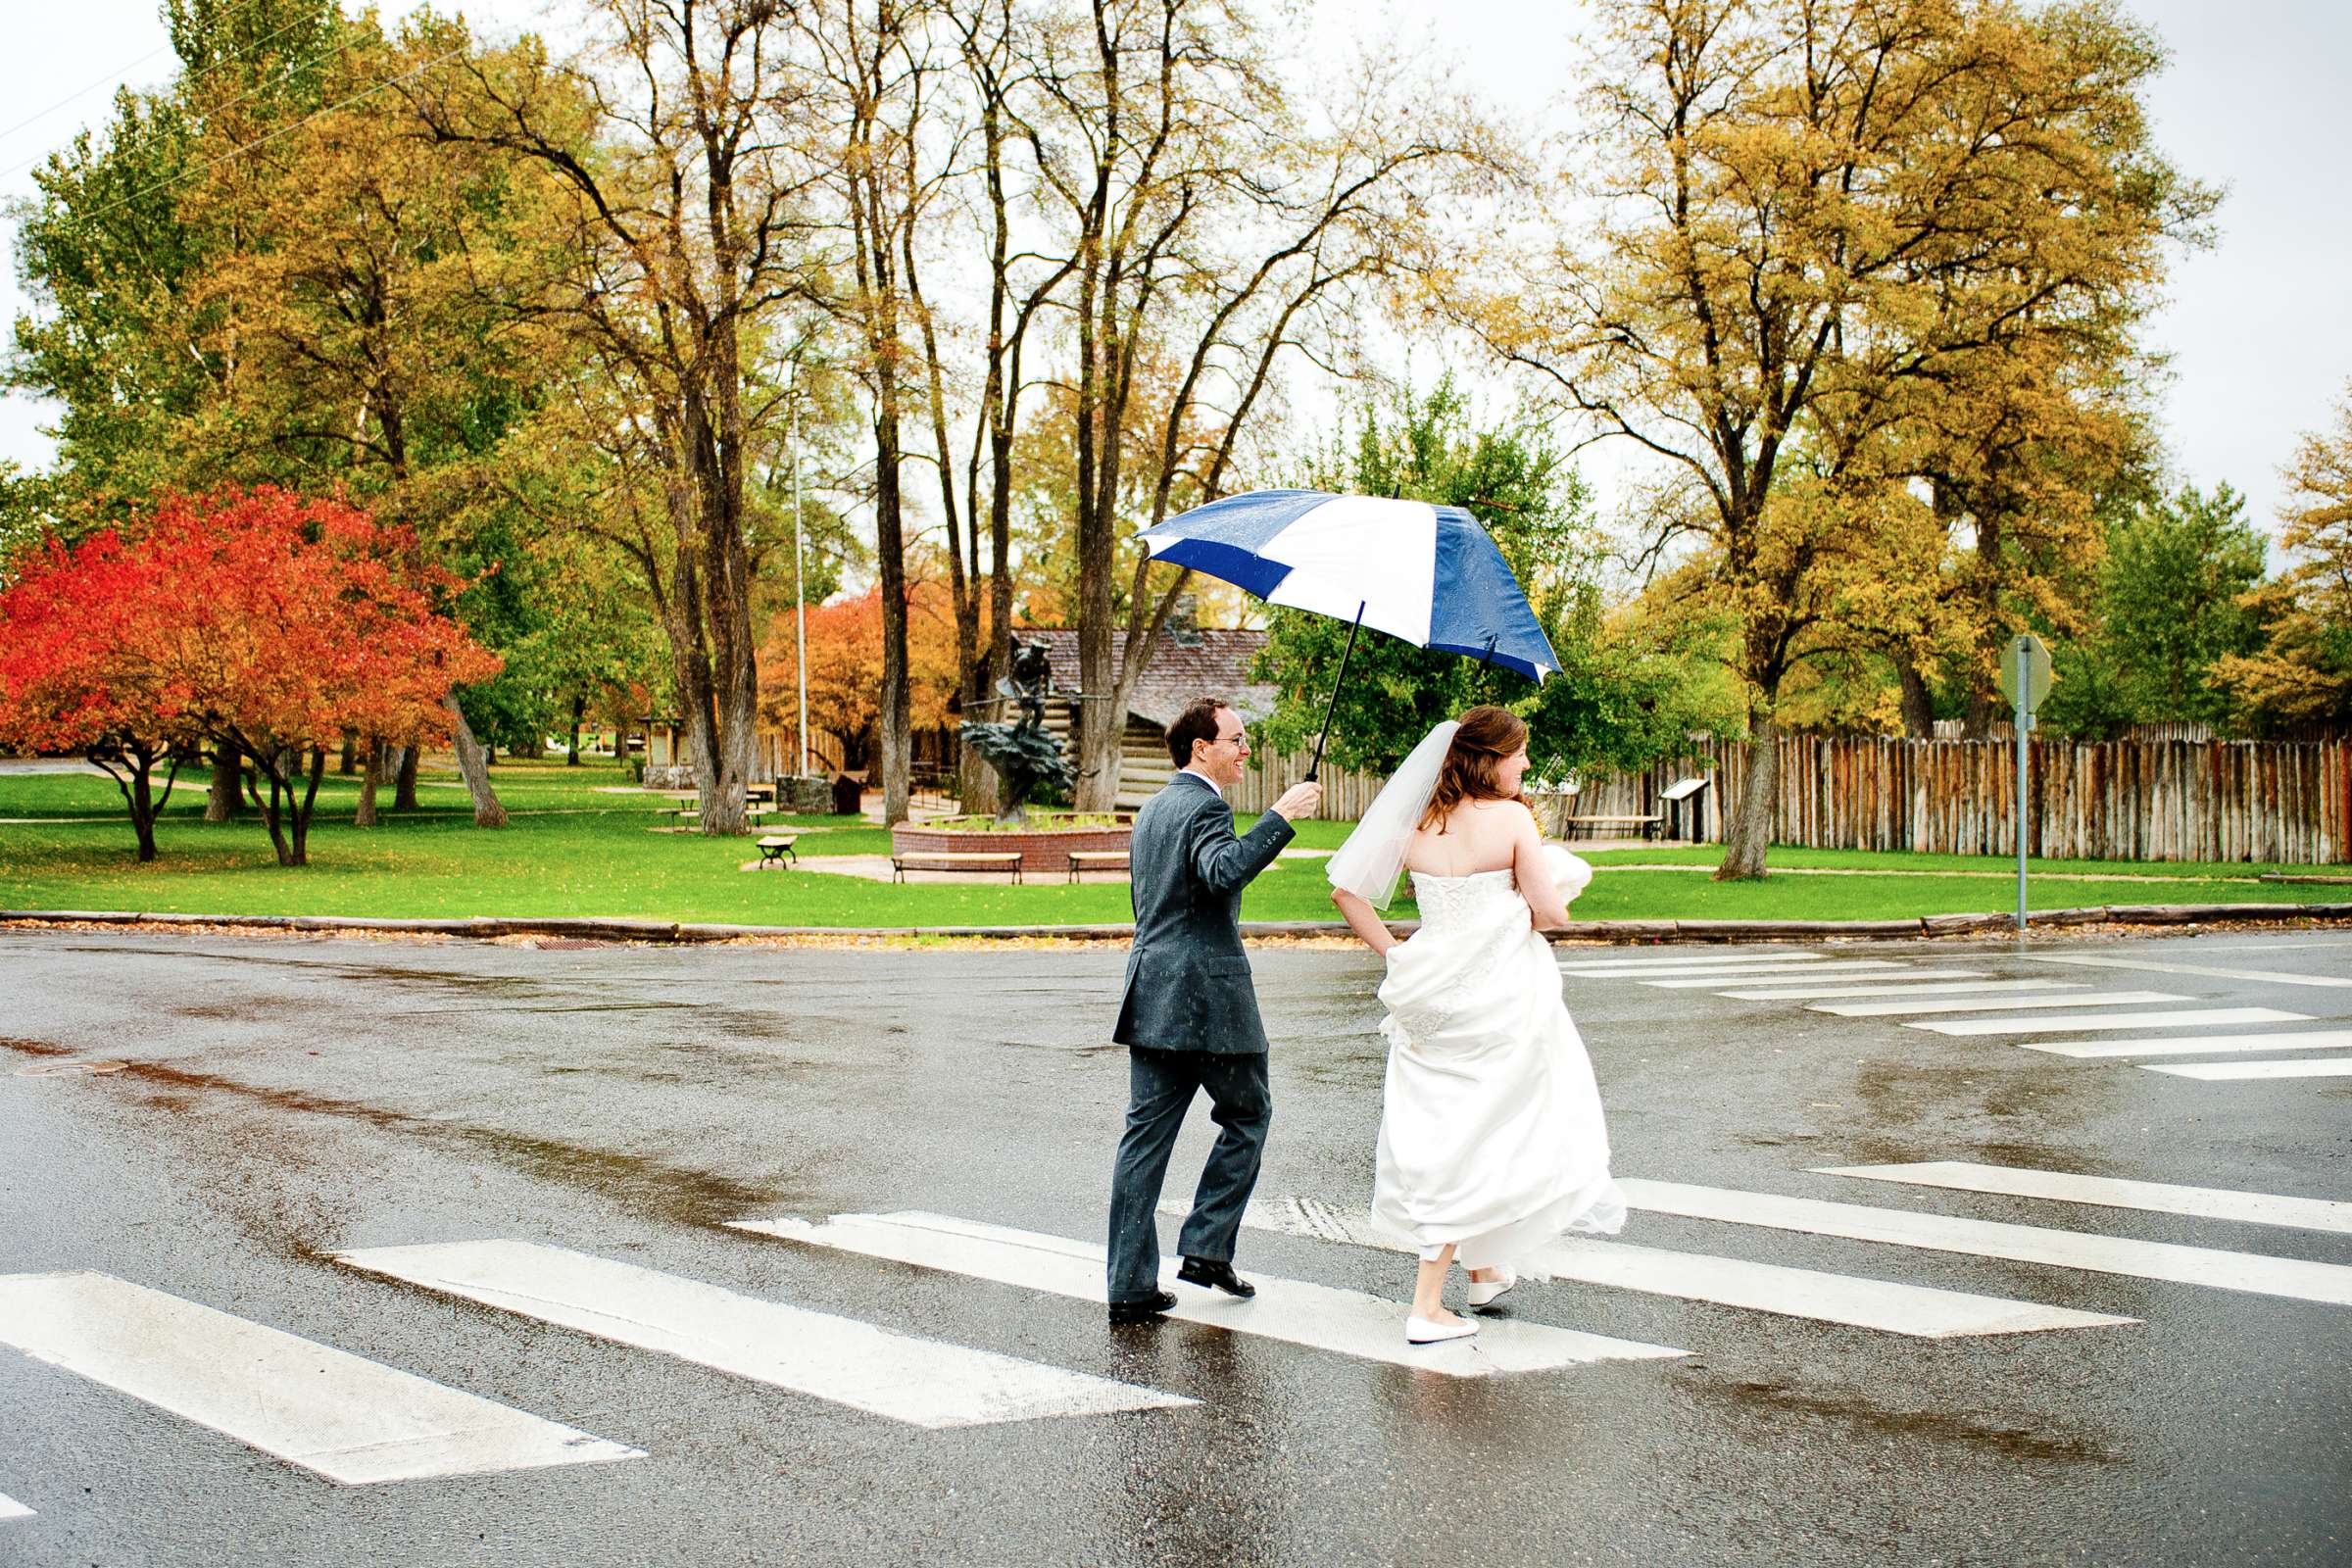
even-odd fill
[{"label": "man in dark gray suit and glasses holding up the umbrella", "polygon": [[1232,832],[1225,790],[1242,780],[1242,717],[1200,698],[1169,726],[1181,769],[1143,811],[1129,842],[1136,945],[1112,1039],[1129,1048],[1127,1135],[1110,1175],[1110,1321],[1141,1324],[1176,1305],[1160,1288],[1160,1182],[1192,1095],[1209,1091],[1216,1147],[1200,1173],[1176,1279],[1256,1295],[1232,1272],[1242,1206],[1275,1107],[1265,1086],[1265,1025],[1242,952],[1242,889],[1315,816],[1322,785],[1294,785],[1247,835]]}]

